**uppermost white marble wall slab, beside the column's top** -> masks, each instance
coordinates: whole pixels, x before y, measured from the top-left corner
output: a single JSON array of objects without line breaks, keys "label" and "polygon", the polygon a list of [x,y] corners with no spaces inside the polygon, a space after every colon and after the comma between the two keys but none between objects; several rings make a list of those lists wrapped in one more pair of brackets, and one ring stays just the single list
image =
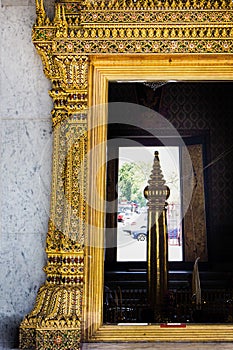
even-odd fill
[{"label": "uppermost white marble wall slab, beside the column's top", "polygon": [[34,6],[3,6],[0,12],[0,116],[50,119],[50,81],[31,39]]}]

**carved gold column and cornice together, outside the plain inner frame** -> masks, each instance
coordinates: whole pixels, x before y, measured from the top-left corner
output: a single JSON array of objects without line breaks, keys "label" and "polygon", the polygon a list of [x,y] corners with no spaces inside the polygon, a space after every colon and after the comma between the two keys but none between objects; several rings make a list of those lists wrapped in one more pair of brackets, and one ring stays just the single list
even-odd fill
[{"label": "carved gold column and cornice together, outside the plain inner frame", "polygon": [[[54,101],[53,176],[46,243],[48,263],[44,268],[47,281],[38,293],[32,313],[21,324],[21,348],[78,349],[83,318],[88,321],[86,314],[95,315],[87,333],[101,323],[99,292],[97,302],[93,302],[94,309],[84,304],[86,314],[82,316],[83,269],[90,268],[88,274],[94,278],[96,268],[93,263],[91,267],[84,263],[87,109],[91,97],[105,100],[104,93],[98,98],[98,92],[90,96],[88,91],[92,88],[88,85],[88,75],[93,55],[153,54],[159,58],[167,53],[232,53],[232,4],[231,0],[64,0],[57,1],[55,17],[50,21],[43,0],[36,0],[32,40],[41,56],[44,73],[52,82],[50,96]],[[168,66],[166,71],[169,75]],[[106,79],[100,74],[98,80],[98,74],[95,72],[90,82],[94,81],[101,91]],[[99,224],[103,217],[98,215]],[[101,228],[98,230],[98,235],[93,237],[102,242]],[[97,266],[102,264],[101,254],[102,251],[96,253],[93,248]],[[99,269],[98,283],[102,281]]]}]

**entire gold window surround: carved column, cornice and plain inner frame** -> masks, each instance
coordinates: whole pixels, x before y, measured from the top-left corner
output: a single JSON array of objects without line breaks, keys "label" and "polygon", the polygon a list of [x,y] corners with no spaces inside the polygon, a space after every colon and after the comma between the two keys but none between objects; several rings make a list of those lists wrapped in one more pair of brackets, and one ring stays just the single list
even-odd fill
[{"label": "entire gold window surround: carved column, cornice and plain inner frame", "polygon": [[93,127],[88,108],[107,103],[113,79],[233,80],[232,1],[64,0],[55,6],[51,21],[36,0],[32,31],[52,82],[53,175],[47,280],[20,326],[20,347],[78,349],[81,340],[135,340],[135,331],[140,341],[232,340],[231,326],[169,334],[157,326],[133,332],[103,326],[104,208],[87,204],[88,196],[95,203],[96,192],[105,194],[104,167],[97,188],[91,174],[98,161],[104,164],[107,131],[106,109],[94,116],[105,126]]}]

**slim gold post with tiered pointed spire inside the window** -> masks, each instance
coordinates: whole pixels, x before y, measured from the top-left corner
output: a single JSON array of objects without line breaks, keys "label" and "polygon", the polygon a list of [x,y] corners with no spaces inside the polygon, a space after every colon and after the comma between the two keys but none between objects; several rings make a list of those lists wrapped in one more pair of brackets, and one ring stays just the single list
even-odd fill
[{"label": "slim gold post with tiered pointed spire inside the window", "polygon": [[164,297],[168,285],[168,245],[166,199],[169,189],[165,185],[159,162],[159,154],[155,152],[153,169],[145,189],[148,199],[148,240],[147,240],[147,274],[148,300],[153,312],[154,322],[163,320]]}]

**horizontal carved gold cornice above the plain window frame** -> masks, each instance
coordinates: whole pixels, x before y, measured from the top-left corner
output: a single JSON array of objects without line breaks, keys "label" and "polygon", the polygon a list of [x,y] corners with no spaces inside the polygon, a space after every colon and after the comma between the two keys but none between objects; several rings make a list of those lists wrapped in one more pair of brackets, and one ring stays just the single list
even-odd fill
[{"label": "horizontal carved gold cornice above the plain window frame", "polygon": [[233,52],[230,0],[60,1],[52,23],[38,8],[33,41],[53,55]]}]

